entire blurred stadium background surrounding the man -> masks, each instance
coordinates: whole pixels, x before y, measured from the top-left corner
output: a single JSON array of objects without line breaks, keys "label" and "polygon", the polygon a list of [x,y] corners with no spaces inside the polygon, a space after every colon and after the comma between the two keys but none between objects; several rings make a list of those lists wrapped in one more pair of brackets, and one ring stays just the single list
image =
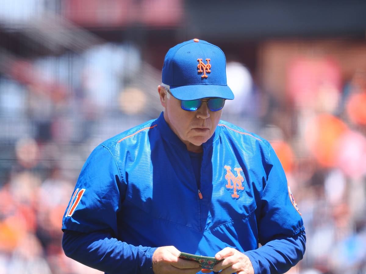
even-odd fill
[{"label": "entire blurred stadium background surrounding the man", "polygon": [[306,226],[290,273],[366,273],[366,1],[0,0],[0,273],[100,273],[61,219],[105,139],[157,118],[168,49],[221,47],[223,119],[275,148]]}]

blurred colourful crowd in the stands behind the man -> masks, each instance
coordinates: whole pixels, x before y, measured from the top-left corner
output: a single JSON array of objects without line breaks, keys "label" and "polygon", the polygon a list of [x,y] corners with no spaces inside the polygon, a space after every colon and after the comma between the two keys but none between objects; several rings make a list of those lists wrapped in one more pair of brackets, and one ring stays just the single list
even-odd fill
[{"label": "blurred colourful crowd in the stands behind the man", "polygon": [[[159,77],[132,78],[142,66],[137,47],[107,43],[0,75],[0,274],[99,273],[63,254],[61,220],[91,150],[159,115],[140,83],[156,91]],[[366,273],[366,71],[344,80],[307,58],[287,69],[283,97],[228,62],[236,99],[222,118],[269,140],[283,164],[307,235],[290,272]]]}]

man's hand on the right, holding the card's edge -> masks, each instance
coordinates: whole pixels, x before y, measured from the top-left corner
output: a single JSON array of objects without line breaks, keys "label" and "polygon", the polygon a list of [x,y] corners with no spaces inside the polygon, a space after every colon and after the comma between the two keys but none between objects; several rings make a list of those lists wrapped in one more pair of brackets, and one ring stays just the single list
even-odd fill
[{"label": "man's hand on the right, holding the card's edge", "polygon": [[[217,263],[213,267],[213,271],[220,272],[220,274],[254,274],[253,266],[248,256],[230,247],[225,247],[223,250],[216,253],[215,258],[223,261]],[[202,269],[203,273],[210,273],[211,270]]]}]

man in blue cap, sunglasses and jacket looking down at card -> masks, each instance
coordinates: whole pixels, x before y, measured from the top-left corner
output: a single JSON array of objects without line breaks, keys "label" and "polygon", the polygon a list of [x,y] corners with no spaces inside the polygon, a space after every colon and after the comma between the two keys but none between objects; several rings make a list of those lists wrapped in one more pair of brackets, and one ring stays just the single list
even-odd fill
[{"label": "man in blue cap, sunglasses and jacket looking down at card", "polygon": [[284,273],[302,259],[303,221],[275,152],[220,121],[234,99],[225,66],[206,41],[168,51],[163,113],[97,146],[82,168],[63,218],[67,256],[110,274],[201,270],[180,252],[215,256],[222,274]]}]

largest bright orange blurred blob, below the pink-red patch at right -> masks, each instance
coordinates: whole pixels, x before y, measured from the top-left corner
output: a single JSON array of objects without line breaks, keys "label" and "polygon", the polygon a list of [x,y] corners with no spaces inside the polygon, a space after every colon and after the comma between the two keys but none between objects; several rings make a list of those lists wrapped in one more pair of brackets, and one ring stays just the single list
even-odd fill
[{"label": "largest bright orange blurred blob, below the pink-red patch at right", "polygon": [[348,130],[347,125],[330,114],[321,114],[310,123],[306,139],[310,151],[323,167],[335,166],[337,144],[346,130]]}]

